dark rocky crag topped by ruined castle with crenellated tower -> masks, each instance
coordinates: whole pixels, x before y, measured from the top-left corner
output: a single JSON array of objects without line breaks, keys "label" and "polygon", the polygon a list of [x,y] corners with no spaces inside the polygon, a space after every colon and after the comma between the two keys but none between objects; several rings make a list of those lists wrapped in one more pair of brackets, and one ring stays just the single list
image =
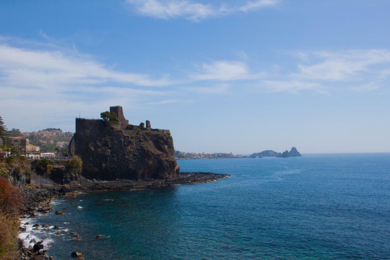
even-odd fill
[{"label": "dark rocky crag topped by ruined castle with crenellated tower", "polygon": [[[110,107],[111,119],[76,118],[71,154],[82,158],[82,175],[89,179],[164,179],[179,175],[169,130],[153,129],[150,121],[129,125],[121,106]],[[111,120],[111,122],[110,122]]]}]

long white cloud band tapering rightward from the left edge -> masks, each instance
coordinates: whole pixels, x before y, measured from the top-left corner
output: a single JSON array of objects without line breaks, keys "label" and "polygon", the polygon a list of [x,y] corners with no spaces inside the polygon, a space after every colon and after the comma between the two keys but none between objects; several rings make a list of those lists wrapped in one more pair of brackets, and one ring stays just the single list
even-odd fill
[{"label": "long white cloud band tapering rightward from the left edge", "polygon": [[141,86],[163,86],[173,82],[168,77],[119,72],[81,55],[59,51],[27,50],[0,45],[0,72],[3,82],[51,87],[52,84],[97,84],[114,81]]}]

